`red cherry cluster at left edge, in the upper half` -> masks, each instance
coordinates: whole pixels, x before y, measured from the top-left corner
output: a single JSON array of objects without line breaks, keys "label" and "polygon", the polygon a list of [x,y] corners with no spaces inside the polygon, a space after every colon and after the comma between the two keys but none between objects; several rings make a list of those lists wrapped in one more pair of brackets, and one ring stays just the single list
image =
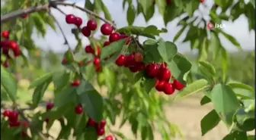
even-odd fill
[{"label": "red cherry cluster at left edge, in the upper half", "polygon": [[4,40],[1,41],[1,49],[2,49],[2,53],[5,54],[6,56],[6,60],[3,63],[4,67],[8,67],[8,60],[11,59],[11,56],[9,55],[9,51],[11,49],[11,51],[13,51],[14,57],[17,58],[18,56],[21,55],[21,50],[17,44],[17,42],[14,42],[12,40],[9,40],[9,36],[10,33],[8,30],[5,30],[2,32],[2,38]]}]

